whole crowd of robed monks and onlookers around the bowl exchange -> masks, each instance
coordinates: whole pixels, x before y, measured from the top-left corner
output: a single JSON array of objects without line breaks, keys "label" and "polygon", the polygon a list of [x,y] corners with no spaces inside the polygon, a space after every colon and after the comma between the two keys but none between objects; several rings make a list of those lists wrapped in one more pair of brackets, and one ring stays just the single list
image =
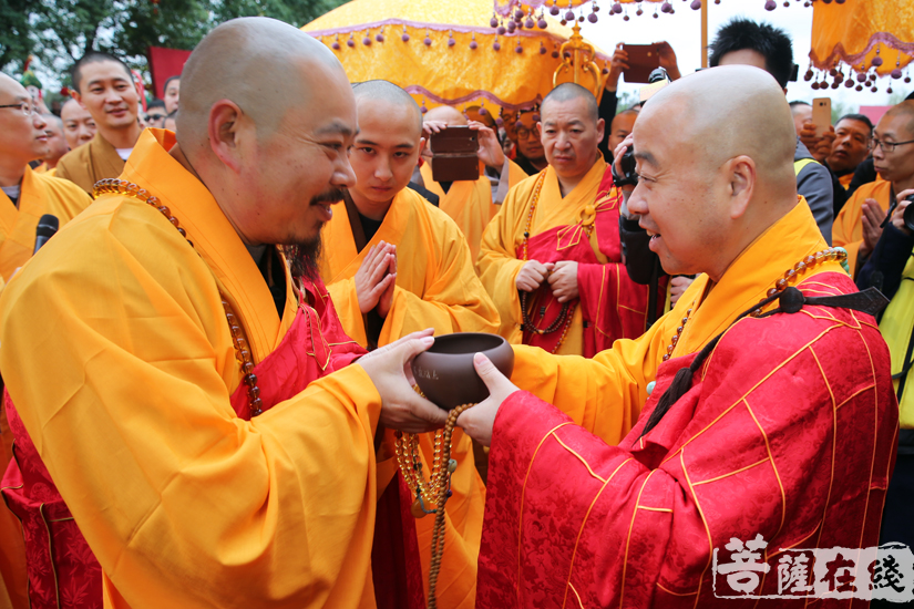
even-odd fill
[{"label": "whole crowd of robed monks and onlookers around the bowl exchange", "polygon": [[[735,539],[764,598],[778,548],[914,544],[914,101],[822,128],[783,31],[708,51],[497,123],[265,18],[145,112],[106,53],[60,116],[0,74],[0,606],[728,607]],[[442,438],[454,332],[514,371]]]}]

